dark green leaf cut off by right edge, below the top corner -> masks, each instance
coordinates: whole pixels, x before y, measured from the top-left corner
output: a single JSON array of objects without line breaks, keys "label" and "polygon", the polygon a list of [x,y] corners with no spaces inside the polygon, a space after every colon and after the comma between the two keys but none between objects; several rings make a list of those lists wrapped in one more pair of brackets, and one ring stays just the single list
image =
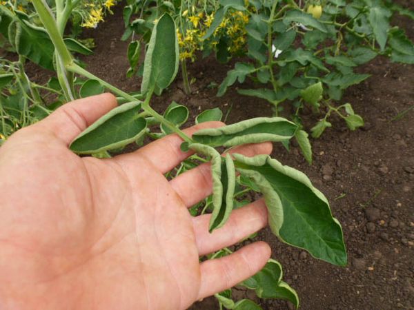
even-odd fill
[{"label": "dark green leaf cut off by right edge, below the top corner", "polygon": [[406,37],[404,30],[393,28],[390,30],[390,39],[388,44],[393,51],[391,52],[391,60],[414,64],[414,44]]}]

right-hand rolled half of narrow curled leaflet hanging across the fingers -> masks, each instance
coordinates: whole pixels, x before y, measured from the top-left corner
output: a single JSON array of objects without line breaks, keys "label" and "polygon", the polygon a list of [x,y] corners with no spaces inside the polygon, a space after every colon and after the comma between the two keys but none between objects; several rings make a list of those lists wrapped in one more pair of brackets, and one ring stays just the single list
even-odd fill
[{"label": "right-hand rolled half of narrow curled leaflet hanging across the fingers", "polygon": [[[213,171],[215,174],[217,171]],[[221,178],[220,182],[223,187],[223,198],[221,199],[220,207],[214,205],[213,200],[213,214],[210,218],[210,224],[208,231],[213,231],[222,227],[228,220],[231,211],[233,210],[233,196],[235,194],[235,185],[236,185],[236,175],[235,175],[235,165],[233,159],[231,159],[230,154],[226,155],[226,160],[224,163],[221,163]]]}]

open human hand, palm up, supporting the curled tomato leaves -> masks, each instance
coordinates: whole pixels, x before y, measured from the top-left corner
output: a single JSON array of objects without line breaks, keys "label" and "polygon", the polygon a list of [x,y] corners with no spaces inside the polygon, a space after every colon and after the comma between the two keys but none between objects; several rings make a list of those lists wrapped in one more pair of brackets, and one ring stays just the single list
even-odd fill
[{"label": "open human hand, palm up, supporting the curled tomato leaves", "polygon": [[262,229],[267,213],[258,200],[209,234],[210,215],[187,210],[212,191],[208,164],[170,181],[163,175],[190,155],[178,136],[108,159],[68,149],[116,105],[110,94],[68,103],[0,147],[0,309],[186,309],[268,260],[268,245],[255,242],[199,262]]}]

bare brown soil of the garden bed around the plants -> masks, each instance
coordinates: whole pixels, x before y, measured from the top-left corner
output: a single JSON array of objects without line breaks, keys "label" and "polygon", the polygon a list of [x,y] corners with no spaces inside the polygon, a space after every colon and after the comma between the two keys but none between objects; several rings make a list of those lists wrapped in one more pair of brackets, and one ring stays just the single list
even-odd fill
[{"label": "bare brown soil of the garden bed around the plants", "polygon": [[[414,9],[411,1],[398,1]],[[405,3],[404,3],[405,2]],[[404,17],[395,21],[414,39],[414,23]],[[95,54],[82,57],[88,70],[124,91],[139,90],[137,78],[127,79],[126,48],[121,11],[115,10],[95,31],[84,32],[97,43]],[[228,112],[226,123],[255,116],[269,116],[262,100],[240,96],[235,87],[217,98],[217,88],[233,64],[204,59],[188,65],[193,94],[183,92],[181,76],[154,100],[164,111],[172,101],[191,112],[189,125],[202,110],[220,107]],[[413,66],[377,58],[361,72],[371,78],[349,88],[344,103],[352,103],[366,125],[355,132],[333,119],[333,127],[313,139],[314,163],[309,166],[293,145],[290,153],[275,145],[273,157],[305,172],[328,197],[334,216],[342,223],[348,250],[348,265],[335,267],[311,258],[306,252],[279,242],[269,229],[259,233],[273,250],[272,257],[284,266],[284,279],[299,294],[301,309],[414,309],[414,110],[394,119],[414,105]],[[30,75],[39,75],[37,68]],[[39,77],[39,76],[38,76]],[[304,115],[310,128],[317,116]],[[233,290],[237,299],[255,298]],[[293,309],[283,300],[258,300],[263,309]],[[191,309],[218,309],[215,298],[197,302]]]}]

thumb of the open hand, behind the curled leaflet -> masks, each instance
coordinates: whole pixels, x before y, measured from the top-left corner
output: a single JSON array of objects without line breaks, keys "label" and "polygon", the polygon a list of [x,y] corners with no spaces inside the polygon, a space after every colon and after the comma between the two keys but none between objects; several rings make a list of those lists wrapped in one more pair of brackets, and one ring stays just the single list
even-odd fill
[{"label": "thumb of the open hand, behind the curled leaflet", "polygon": [[90,96],[66,103],[34,126],[69,145],[78,134],[114,107],[117,107],[117,100],[112,94]]}]

